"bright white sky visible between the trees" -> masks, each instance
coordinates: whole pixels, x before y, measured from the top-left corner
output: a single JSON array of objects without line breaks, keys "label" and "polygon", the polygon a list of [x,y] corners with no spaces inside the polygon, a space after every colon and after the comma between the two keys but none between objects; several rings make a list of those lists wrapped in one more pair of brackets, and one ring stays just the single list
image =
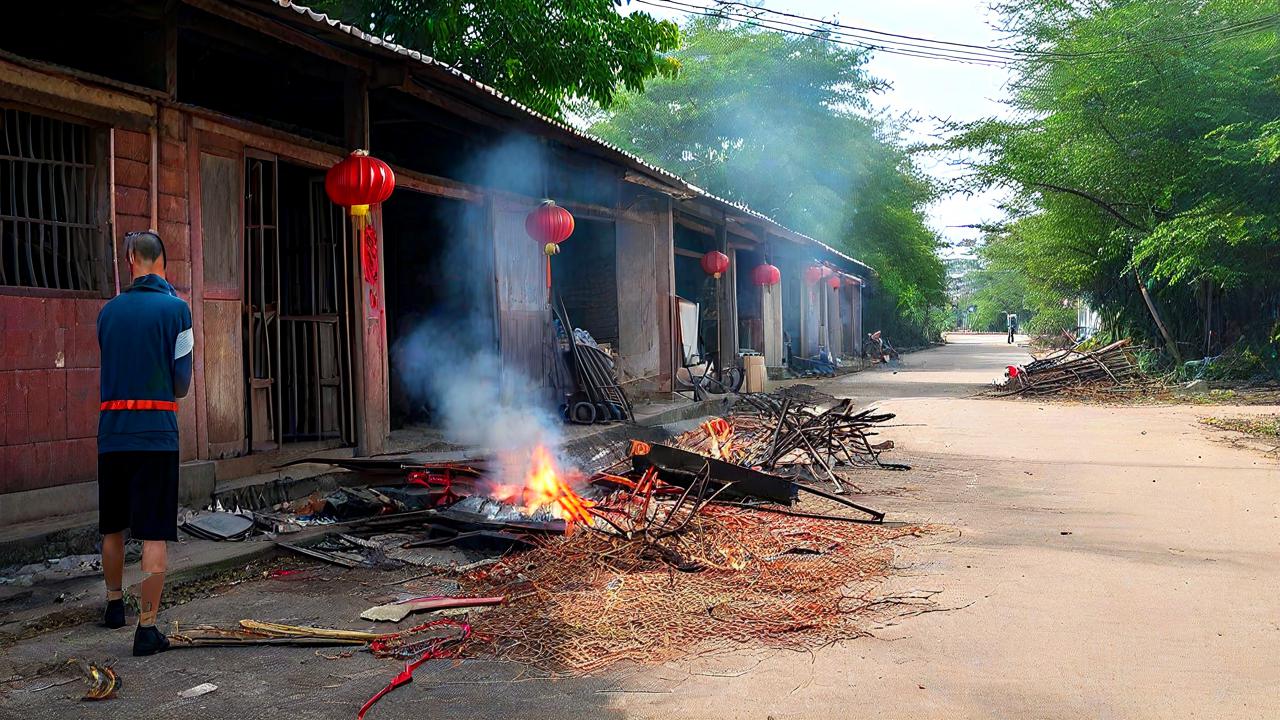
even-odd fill
[{"label": "bright white sky visible between the trees", "polygon": [[[709,6],[712,0],[684,0]],[[758,1],[758,0],[756,0]],[[800,15],[822,18],[845,26],[873,28],[899,35],[997,45],[1000,33],[991,27],[989,0],[764,0],[763,6]],[[631,3],[630,9],[644,10],[664,18],[680,18],[680,12]],[[626,12],[626,10],[625,10]],[[786,20],[800,22],[800,20]],[[870,73],[892,85],[877,99],[878,108],[891,113],[911,113],[920,119],[911,124],[906,141],[928,141],[936,137],[940,120],[973,120],[997,115],[1009,117],[1000,104],[1009,73],[1004,68],[970,65],[923,58],[877,53],[868,63]],[[924,159],[922,167],[940,179],[956,174],[945,159]],[[960,228],[997,220],[998,193],[965,197],[943,197],[929,208],[929,222],[954,249],[945,256],[964,256],[961,247],[978,237],[979,231]]]}]

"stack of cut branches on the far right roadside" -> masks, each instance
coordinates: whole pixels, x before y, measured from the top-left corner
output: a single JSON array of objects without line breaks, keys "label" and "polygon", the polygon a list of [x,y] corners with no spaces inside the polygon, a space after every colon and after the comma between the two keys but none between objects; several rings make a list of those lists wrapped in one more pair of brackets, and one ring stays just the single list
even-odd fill
[{"label": "stack of cut branches on the far right roadside", "polygon": [[1130,341],[1121,340],[1098,350],[1064,350],[1011,368],[995,395],[1053,395],[1093,384],[1120,387],[1140,374]]}]

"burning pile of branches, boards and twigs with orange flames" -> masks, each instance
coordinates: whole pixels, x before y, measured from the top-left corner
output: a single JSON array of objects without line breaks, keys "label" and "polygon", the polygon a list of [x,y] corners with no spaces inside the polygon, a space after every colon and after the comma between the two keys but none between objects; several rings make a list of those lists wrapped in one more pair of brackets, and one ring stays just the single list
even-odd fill
[{"label": "burning pile of branches, boards and twigs with orange flames", "polygon": [[[892,443],[870,438],[892,416],[800,387],[748,396],[728,418],[669,445],[634,439],[591,474],[567,468],[545,445],[490,461],[402,464],[407,487],[428,491],[426,507],[347,521],[320,547],[287,547],[346,566],[479,548],[481,560],[428,562],[431,571],[416,575],[447,579],[448,594],[362,614],[401,621],[443,609],[471,612],[465,621],[367,633],[247,620],[173,641],[361,644],[408,661],[367,710],[435,657],[492,655],[585,674],[733,643],[808,650],[855,638],[892,612],[893,601],[876,594],[892,543],[927,528],[886,524],[883,512],[813,486],[844,492],[837,468],[891,466],[879,456]],[[339,462],[385,471],[397,461]]]}]

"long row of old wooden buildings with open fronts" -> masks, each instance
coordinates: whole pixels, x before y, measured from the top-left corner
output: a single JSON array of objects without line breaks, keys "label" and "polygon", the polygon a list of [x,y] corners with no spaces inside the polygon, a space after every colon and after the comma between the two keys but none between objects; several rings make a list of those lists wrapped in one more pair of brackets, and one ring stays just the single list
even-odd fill
[{"label": "long row of old wooden buildings with open fronts", "polygon": [[[160,233],[192,307],[187,500],[305,452],[380,452],[388,348],[458,302],[458,277],[503,363],[544,377],[547,281],[524,228],[541,197],[579,223],[557,290],[637,392],[672,391],[675,299],[708,287],[717,347],[774,366],[783,337],[859,348],[869,268],[288,0],[23,4],[0,27],[0,131],[4,524],[96,505],[95,322],[128,283],[129,231]],[[372,273],[323,187],[357,147],[397,174]],[[707,286],[710,249],[732,263]],[[765,258],[783,281],[762,292],[742,278]],[[801,281],[818,261],[844,290]]]}]

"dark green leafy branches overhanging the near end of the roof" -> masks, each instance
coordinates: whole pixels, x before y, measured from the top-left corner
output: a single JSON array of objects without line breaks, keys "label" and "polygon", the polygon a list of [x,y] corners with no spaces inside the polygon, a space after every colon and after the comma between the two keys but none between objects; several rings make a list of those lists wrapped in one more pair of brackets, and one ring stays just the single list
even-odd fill
[{"label": "dark green leafy branches overhanging the near end of the roof", "polygon": [[[630,0],[627,0],[630,1]],[[663,55],[680,29],[614,0],[320,0],[366,32],[425,53],[516,100],[561,117],[575,100],[602,106],[618,87],[673,76]]]}]

